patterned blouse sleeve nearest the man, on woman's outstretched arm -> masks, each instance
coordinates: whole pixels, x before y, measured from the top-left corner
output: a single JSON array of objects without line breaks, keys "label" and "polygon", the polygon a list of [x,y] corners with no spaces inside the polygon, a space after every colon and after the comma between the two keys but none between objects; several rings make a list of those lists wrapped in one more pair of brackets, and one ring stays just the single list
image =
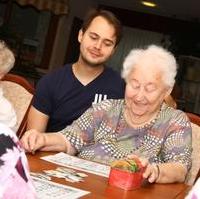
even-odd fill
[{"label": "patterned blouse sleeve nearest the man, on woman's outstretched arm", "polygon": [[95,128],[98,127],[105,113],[104,103],[93,105],[70,126],[61,131],[77,152],[80,152],[83,146],[94,143]]}]

